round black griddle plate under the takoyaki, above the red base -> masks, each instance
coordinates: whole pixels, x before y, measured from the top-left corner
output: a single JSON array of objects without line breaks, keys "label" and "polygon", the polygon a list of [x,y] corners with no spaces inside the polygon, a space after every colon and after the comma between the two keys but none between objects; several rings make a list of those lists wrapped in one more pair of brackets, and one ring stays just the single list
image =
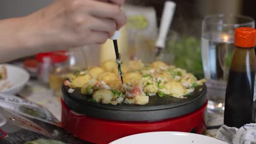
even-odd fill
[{"label": "round black griddle plate under the takoyaki, above the red base", "polygon": [[88,102],[91,96],[80,94],[80,89],[68,93],[68,88],[62,86],[62,98],[69,109],[90,117],[112,121],[162,121],[194,112],[206,102],[205,85],[195,88],[193,93],[186,96],[187,99],[155,95],[149,97],[149,103],[146,105],[97,104]]}]

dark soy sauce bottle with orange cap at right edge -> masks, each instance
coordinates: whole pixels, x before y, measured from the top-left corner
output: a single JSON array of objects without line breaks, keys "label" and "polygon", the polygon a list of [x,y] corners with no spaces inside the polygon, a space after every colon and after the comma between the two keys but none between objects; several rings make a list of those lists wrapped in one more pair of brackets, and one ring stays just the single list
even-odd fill
[{"label": "dark soy sauce bottle with orange cap at right edge", "polygon": [[240,27],[235,30],[235,50],[232,57],[226,87],[224,124],[240,128],[255,122],[254,80],[256,59],[254,28]]}]

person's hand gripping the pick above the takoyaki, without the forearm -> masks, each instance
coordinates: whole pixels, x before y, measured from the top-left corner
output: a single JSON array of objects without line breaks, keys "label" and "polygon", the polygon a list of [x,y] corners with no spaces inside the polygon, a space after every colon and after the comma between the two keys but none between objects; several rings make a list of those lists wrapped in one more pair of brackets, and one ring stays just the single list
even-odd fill
[{"label": "person's hand gripping the pick above the takoyaki, without the forearm", "polygon": [[36,32],[34,43],[44,47],[102,44],[126,23],[123,4],[124,0],[57,0],[26,16],[24,28]]}]

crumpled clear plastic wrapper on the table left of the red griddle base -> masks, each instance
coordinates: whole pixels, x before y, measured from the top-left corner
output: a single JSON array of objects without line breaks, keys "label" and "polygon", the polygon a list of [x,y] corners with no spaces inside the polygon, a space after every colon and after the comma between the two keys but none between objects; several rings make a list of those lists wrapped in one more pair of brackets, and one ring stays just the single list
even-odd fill
[{"label": "crumpled clear plastic wrapper on the table left of the red griddle base", "polygon": [[8,134],[1,144],[37,139],[86,143],[59,127],[60,122],[44,107],[11,95],[0,94],[0,99],[0,129]]}]

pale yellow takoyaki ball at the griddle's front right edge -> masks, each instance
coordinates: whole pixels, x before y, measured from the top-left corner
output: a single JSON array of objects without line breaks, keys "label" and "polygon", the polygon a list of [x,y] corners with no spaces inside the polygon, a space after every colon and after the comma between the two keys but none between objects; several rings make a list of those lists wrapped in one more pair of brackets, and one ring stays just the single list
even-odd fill
[{"label": "pale yellow takoyaki ball at the griddle's front right edge", "polygon": [[183,98],[183,95],[186,93],[186,88],[182,83],[177,81],[171,81],[165,84],[165,88],[159,89],[166,95],[172,95],[173,97]]}]

